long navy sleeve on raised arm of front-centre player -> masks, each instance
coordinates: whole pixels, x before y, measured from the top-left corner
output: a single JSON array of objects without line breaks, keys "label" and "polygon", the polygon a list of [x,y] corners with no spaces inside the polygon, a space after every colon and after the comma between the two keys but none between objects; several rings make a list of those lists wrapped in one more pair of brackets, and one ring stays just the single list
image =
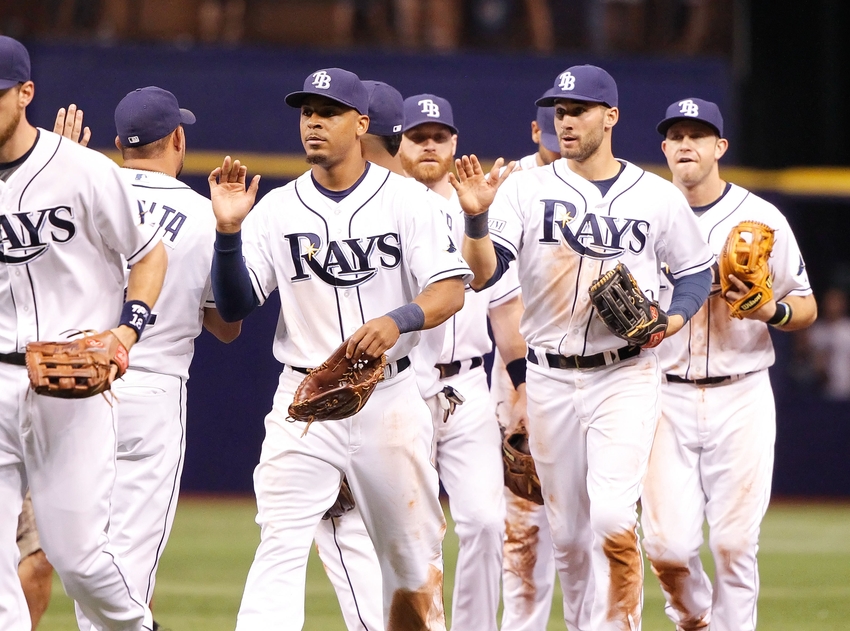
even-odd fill
[{"label": "long navy sleeve on raised arm of front-centre player", "polygon": [[242,233],[215,233],[212,263],[215,306],[225,322],[237,322],[260,305],[242,257]]}]

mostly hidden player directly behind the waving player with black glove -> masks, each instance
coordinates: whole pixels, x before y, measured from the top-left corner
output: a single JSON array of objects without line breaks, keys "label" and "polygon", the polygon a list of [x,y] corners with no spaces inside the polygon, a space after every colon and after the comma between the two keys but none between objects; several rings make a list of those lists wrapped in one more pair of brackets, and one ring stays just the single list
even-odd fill
[{"label": "mostly hidden player directly behind the waving player with black glove", "polygon": [[[531,121],[531,139],[537,151],[517,161],[518,170],[546,166],[561,157],[555,133],[555,108],[538,107]],[[499,423],[513,432],[525,425],[525,388],[515,389],[496,351],[490,390]],[[502,560],[502,631],[543,631],[549,623],[555,589],[555,557],[546,511],[517,497],[505,487],[505,545]]]}]

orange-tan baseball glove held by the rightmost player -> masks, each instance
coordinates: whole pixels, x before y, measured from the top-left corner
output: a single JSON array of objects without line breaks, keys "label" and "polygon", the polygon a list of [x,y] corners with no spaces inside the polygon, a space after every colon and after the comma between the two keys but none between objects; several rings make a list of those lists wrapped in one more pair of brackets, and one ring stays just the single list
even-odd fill
[{"label": "orange-tan baseball glove held by the rightmost player", "polygon": [[[760,309],[773,298],[773,276],[767,260],[773,251],[773,228],[756,221],[742,221],[732,228],[720,250],[718,268],[721,294],[726,298],[732,316],[740,319]],[[749,291],[738,300],[726,297],[736,289],[729,274],[743,281]]]}]

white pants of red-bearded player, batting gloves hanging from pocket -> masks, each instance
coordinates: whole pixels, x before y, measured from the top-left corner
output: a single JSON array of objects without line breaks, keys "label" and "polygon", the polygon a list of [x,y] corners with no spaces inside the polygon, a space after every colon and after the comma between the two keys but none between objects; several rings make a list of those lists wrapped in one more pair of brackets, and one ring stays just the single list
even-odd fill
[{"label": "white pants of red-bearded player, batting gloves hanging from pocket", "polygon": [[446,422],[436,396],[435,459],[458,536],[453,631],[496,631],[505,536],[502,441],[483,367],[440,380],[466,399]]}]

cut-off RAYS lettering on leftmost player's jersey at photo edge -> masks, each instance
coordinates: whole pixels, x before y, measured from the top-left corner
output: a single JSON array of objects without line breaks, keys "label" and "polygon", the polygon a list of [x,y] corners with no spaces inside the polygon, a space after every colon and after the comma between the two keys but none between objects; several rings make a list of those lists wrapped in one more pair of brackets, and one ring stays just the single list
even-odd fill
[{"label": "cut-off RAYS lettering on leftmost player's jersey at photo edge", "polygon": [[0,262],[23,265],[44,254],[51,243],[67,243],[77,228],[69,206],[0,215]]}]

